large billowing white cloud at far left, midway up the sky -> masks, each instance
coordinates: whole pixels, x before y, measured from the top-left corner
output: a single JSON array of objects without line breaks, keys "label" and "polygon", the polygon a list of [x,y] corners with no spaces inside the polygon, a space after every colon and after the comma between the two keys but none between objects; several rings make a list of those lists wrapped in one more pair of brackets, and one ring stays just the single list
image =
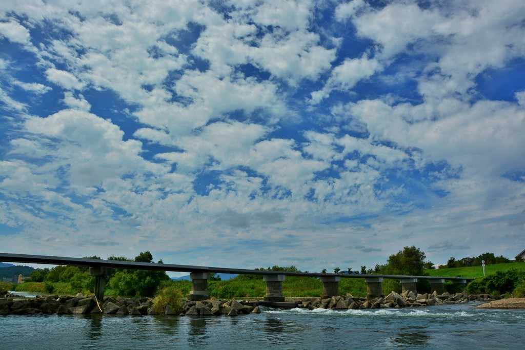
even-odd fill
[{"label": "large billowing white cloud at far left, midway up the sky", "polygon": [[53,155],[69,168],[73,185],[99,186],[105,179],[137,172],[158,174],[163,168],[145,162],[141,143],[123,141],[123,132],[110,121],[81,110],[62,110],[47,118],[30,118],[27,131],[60,140]]}]

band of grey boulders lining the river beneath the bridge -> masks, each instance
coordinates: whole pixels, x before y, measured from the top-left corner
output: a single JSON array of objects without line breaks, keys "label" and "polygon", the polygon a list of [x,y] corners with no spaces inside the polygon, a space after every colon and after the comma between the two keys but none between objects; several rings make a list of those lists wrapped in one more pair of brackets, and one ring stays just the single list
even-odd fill
[{"label": "band of grey boulders lining the river beneath the bridge", "polygon": [[[275,303],[275,307],[300,307],[303,309],[379,309],[385,307],[415,307],[440,304],[458,304],[469,301],[492,301],[498,299],[494,295],[479,294],[467,295],[465,292],[456,294],[415,294],[391,292],[384,298],[366,300],[356,298],[350,294],[332,296],[331,298],[294,298],[287,303]],[[94,295],[47,295],[39,298],[0,299],[0,315],[7,314],[117,314],[117,315],[148,315],[155,314],[154,300],[150,298],[123,299],[105,296],[103,302],[97,301]],[[261,303],[262,304],[262,303]],[[268,305],[268,303],[265,303]],[[209,299],[204,301],[185,301],[181,309],[174,310],[166,306],[163,314],[188,316],[236,316],[241,314],[258,313],[259,302]]]}]

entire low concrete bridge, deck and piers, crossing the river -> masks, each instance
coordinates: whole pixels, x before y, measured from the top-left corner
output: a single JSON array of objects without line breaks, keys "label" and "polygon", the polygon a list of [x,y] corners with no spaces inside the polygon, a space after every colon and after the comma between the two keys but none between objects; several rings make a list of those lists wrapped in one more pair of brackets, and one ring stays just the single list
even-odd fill
[{"label": "entire low concrete bridge, deck and piers, crossing the river", "polygon": [[95,296],[99,300],[104,297],[104,285],[106,276],[112,269],[135,269],[135,270],[155,270],[155,271],[173,271],[173,272],[190,272],[192,280],[192,290],[187,295],[188,300],[206,300],[209,299],[208,279],[212,272],[215,273],[234,273],[234,274],[254,274],[263,275],[266,282],[265,301],[283,302],[282,282],[286,276],[299,277],[317,277],[323,283],[323,296],[339,295],[339,282],[341,278],[364,278],[367,285],[367,298],[374,299],[382,296],[382,282],[384,279],[401,280],[403,291],[410,290],[416,293],[416,283],[418,280],[428,280],[430,290],[442,293],[445,291],[445,280],[450,280],[454,284],[466,285],[473,280],[461,277],[432,277],[432,276],[407,276],[407,275],[390,275],[390,274],[346,274],[346,273],[320,273],[320,272],[289,272],[289,271],[266,271],[266,270],[249,270],[249,269],[230,269],[206,266],[192,265],[175,265],[175,264],[158,264],[149,262],[120,261],[120,260],[99,260],[85,258],[67,258],[52,257],[43,255],[30,254],[13,254],[0,253],[0,261],[4,262],[22,262],[49,265],[67,265],[88,267],[89,274],[95,277]]}]

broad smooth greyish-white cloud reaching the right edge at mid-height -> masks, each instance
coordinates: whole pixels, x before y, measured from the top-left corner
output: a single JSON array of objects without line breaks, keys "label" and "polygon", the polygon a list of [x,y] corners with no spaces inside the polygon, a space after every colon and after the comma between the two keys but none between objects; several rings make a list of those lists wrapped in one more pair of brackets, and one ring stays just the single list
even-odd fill
[{"label": "broad smooth greyish-white cloud reaching the right edge at mid-height", "polygon": [[418,147],[430,157],[427,160],[447,160],[469,175],[501,176],[515,166],[518,150],[525,147],[520,136],[525,132],[525,110],[512,103],[479,101],[470,106],[445,100],[433,110],[437,120],[418,123],[403,119],[407,109],[411,108],[361,101],[352,113],[367,124],[371,139]]}]

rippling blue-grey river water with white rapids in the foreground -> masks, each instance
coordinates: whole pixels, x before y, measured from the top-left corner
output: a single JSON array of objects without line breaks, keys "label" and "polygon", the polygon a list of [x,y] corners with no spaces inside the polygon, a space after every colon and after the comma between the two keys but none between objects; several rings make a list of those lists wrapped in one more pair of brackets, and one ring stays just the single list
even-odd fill
[{"label": "rippling blue-grey river water with white rapids in the foreground", "polygon": [[523,349],[525,310],[262,309],[228,316],[0,316],[0,349]]}]

